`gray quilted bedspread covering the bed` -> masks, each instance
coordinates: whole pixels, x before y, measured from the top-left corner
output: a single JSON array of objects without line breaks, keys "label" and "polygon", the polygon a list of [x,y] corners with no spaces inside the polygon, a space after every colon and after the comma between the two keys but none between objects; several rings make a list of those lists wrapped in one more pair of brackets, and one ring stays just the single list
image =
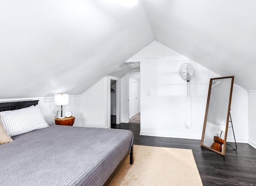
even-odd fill
[{"label": "gray quilted bedspread covering the bed", "polygon": [[0,186],[101,186],[128,152],[128,130],[50,126],[0,145]]}]

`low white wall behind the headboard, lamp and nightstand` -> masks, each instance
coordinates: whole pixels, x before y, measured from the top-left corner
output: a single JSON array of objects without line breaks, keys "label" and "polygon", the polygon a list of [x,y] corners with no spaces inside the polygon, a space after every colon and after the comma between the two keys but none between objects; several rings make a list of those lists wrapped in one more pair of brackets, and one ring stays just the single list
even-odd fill
[{"label": "low white wall behind the headboard, lamp and nightstand", "polygon": [[[55,119],[57,110],[59,110],[58,115],[60,116],[61,108],[60,106],[54,105],[54,97],[5,99],[5,100],[0,100],[0,102],[22,101],[22,100],[39,100],[38,105],[41,108],[44,119],[49,125],[54,124],[54,119]],[[72,115],[75,117],[75,122],[73,126],[81,126],[80,95],[69,96],[68,105],[63,105],[62,115],[65,115],[66,111],[71,111]]]}]

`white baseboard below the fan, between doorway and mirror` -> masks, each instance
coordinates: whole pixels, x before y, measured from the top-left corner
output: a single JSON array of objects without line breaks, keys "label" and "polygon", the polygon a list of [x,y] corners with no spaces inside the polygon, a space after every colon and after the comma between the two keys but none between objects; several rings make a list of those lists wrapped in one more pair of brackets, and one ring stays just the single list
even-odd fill
[{"label": "white baseboard below the fan, between doorway and mirror", "polygon": [[185,138],[185,139],[194,139],[194,140],[201,140],[201,138],[202,138],[201,135],[172,134],[172,133],[165,133],[165,132],[143,132],[143,131],[140,131],[140,135],[167,137],[167,138]]}]

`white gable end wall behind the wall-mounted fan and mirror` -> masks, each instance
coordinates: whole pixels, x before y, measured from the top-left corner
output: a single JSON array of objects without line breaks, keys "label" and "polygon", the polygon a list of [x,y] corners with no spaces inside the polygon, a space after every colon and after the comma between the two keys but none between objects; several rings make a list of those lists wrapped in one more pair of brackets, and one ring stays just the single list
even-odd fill
[{"label": "white gable end wall behind the wall-mounted fan and mirror", "polygon": [[[148,51],[154,51],[154,55],[146,55],[147,47],[150,48]],[[201,139],[209,80],[219,75],[159,42],[154,41],[147,47],[128,60],[128,62],[140,61],[140,134]],[[191,100],[187,97],[186,81],[180,78],[178,73],[180,65],[185,62],[192,64],[196,73],[194,80],[191,80],[191,118]],[[146,91],[150,91],[151,95],[146,96]],[[231,109],[236,140],[247,142],[247,92],[236,85],[234,85]],[[232,139],[232,131],[229,130],[228,140],[232,141]]]}]

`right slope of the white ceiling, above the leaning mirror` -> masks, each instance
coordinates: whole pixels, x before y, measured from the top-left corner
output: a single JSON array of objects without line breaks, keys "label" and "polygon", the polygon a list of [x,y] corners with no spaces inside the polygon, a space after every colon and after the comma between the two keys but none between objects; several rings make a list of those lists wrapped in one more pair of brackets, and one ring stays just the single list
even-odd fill
[{"label": "right slope of the white ceiling, above the leaning mirror", "polygon": [[154,38],[256,90],[255,0],[144,0]]}]

